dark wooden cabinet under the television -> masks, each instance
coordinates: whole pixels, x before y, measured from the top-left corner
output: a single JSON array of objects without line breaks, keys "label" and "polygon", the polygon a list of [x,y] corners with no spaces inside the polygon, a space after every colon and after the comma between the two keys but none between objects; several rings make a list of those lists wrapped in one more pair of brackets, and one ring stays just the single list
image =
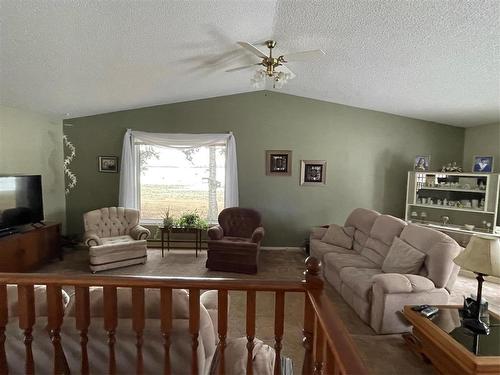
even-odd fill
[{"label": "dark wooden cabinet under the television", "polygon": [[62,259],[60,224],[0,238],[0,272],[34,271],[55,257]]}]

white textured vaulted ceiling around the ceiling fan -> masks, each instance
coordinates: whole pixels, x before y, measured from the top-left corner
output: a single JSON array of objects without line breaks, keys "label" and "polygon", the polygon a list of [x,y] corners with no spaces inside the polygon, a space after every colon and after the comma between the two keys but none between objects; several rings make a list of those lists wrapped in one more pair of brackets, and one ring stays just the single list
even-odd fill
[{"label": "white textured vaulted ceiling around the ceiling fan", "polygon": [[[64,117],[252,91],[236,45],[322,48],[277,91],[500,122],[498,1],[0,0],[0,103]],[[264,49],[264,47],[262,47]]]}]

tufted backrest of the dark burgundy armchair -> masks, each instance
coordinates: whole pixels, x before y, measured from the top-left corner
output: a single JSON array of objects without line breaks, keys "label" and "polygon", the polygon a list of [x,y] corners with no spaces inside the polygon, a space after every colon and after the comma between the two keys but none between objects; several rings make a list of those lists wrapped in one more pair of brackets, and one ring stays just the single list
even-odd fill
[{"label": "tufted backrest of the dark burgundy armchair", "polygon": [[224,236],[250,238],[261,225],[261,216],[251,208],[225,208],[219,214],[219,225],[224,230]]}]

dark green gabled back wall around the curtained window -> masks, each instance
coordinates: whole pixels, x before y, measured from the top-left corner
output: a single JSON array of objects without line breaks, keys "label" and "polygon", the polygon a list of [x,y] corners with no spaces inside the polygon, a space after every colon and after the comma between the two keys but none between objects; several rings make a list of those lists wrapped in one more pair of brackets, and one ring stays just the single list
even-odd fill
[{"label": "dark green gabled back wall around the curtained window", "polygon": [[[82,214],[118,203],[119,174],[97,172],[98,155],[121,156],[127,128],[151,132],[232,131],[240,206],[261,211],[264,245],[298,246],[309,228],[343,223],[356,207],[404,215],[406,176],[417,154],[432,165],[462,162],[464,129],[339,104],[258,91],[67,120],[78,185],[67,197],[69,233]],[[292,150],[291,177],[265,175],[265,150]],[[327,185],[299,186],[301,159],[328,162]]]}]

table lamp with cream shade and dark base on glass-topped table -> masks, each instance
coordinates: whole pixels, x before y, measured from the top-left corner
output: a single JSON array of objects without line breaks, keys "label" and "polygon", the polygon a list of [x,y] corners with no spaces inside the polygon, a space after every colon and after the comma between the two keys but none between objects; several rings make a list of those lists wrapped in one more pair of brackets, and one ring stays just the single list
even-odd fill
[{"label": "table lamp with cream shade and dark base on glass-topped table", "polygon": [[490,328],[481,321],[481,294],[484,276],[500,276],[500,240],[495,237],[474,235],[465,250],[453,261],[477,275],[476,316],[464,319],[463,326],[475,333],[487,335],[490,333]]}]

